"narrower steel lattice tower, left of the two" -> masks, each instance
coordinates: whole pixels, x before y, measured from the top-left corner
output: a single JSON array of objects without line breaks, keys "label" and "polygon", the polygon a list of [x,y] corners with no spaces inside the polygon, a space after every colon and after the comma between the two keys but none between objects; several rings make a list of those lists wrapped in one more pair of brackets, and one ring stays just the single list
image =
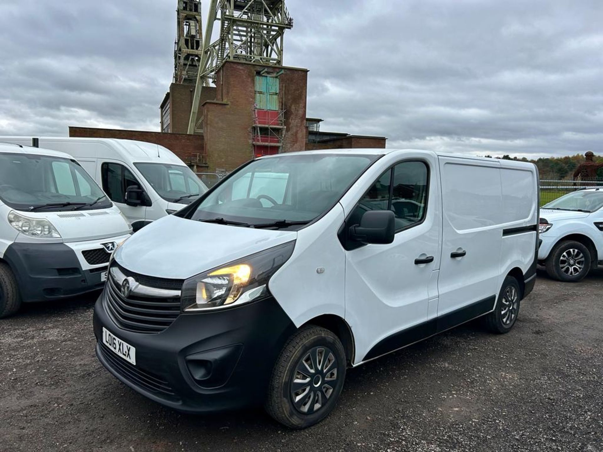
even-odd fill
[{"label": "narrower steel lattice tower, left of the two", "polygon": [[195,84],[203,55],[201,1],[178,0],[174,82]]}]

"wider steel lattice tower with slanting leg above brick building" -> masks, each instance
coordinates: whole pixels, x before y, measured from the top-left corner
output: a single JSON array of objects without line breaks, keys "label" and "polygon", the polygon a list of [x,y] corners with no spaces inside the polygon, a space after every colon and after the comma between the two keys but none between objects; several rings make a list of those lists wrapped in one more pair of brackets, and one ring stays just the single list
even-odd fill
[{"label": "wider steel lattice tower with slanting leg above brick building", "polygon": [[[216,21],[220,22],[219,37],[210,43]],[[292,27],[285,0],[211,0],[203,55],[195,78],[189,134],[198,130],[201,90],[213,81],[219,67],[229,60],[282,66],[283,36]]]}]

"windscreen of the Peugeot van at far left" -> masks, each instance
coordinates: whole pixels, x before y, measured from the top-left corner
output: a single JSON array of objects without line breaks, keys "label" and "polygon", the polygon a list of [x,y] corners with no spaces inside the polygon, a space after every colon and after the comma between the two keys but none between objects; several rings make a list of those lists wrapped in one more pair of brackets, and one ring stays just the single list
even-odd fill
[{"label": "windscreen of the Peugeot van at far left", "polygon": [[0,154],[0,199],[21,211],[107,209],[112,206],[75,160]]}]

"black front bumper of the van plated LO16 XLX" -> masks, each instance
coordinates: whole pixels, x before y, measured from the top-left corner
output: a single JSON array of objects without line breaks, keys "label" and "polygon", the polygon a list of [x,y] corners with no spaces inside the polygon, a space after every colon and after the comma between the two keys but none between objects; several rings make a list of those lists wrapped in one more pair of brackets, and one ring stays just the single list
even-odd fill
[{"label": "black front bumper of the van plated LO16 XLX", "polygon": [[[103,344],[103,327],[136,348],[136,365]],[[94,309],[96,356],[130,388],[182,412],[260,404],[274,362],[295,325],[274,298],[207,313],[182,314],[161,333],[119,328],[103,295]]]}]

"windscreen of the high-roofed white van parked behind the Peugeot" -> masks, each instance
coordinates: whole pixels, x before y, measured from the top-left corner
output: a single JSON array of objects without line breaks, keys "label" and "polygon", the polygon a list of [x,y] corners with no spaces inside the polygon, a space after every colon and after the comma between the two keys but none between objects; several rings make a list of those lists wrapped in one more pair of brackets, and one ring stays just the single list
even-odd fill
[{"label": "windscreen of the high-roofed white van parked behind the Peugeot", "polygon": [[151,187],[168,202],[190,204],[207,187],[188,166],[169,163],[134,163]]}]

